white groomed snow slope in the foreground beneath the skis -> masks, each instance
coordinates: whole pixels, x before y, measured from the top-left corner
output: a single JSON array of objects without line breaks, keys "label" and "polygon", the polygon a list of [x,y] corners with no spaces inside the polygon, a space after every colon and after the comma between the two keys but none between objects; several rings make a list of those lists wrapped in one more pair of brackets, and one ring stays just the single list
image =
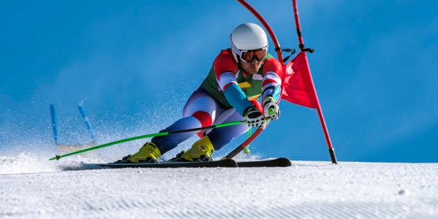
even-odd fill
[{"label": "white groomed snow slope in the foreground beneath the skis", "polygon": [[87,170],[48,158],[0,156],[0,218],[438,218],[437,163]]}]

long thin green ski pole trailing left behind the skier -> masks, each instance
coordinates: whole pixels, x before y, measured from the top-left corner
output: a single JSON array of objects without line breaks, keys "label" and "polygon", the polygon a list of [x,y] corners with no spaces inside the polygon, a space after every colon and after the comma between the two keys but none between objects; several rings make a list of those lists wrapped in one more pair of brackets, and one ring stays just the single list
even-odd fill
[{"label": "long thin green ski pole trailing left behind the skier", "polygon": [[245,123],[245,120],[243,120],[243,121],[236,121],[236,122],[225,122],[225,123],[222,123],[222,124],[211,125],[209,127],[200,127],[200,128],[184,129],[184,130],[177,130],[177,131],[165,131],[165,132],[147,134],[147,135],[143,135],[143,136],[136,136],[136,137],[131,137],[131,138],[125,138],[125,139],[122,139],[122,140],[113,141],[111,143],[106,143],[106,144],[103,144],[103,145],[97,145],[95,147],[89,147],[89,148],[86,148],[86,149],[81,149],[79,151],[72,152],[72,153],[69,153],[69,154],[56,155],[56,156],[52,157],[51,159],[49,159],[49,161],[59,160],[59,159],[65,157],[65,156],[71,156],[71,155],[74,155],[74,154],[80,154],[80,153],[83,153],[83,152],[91,151],[93,149],[99,149],[99,148],[102,148],[102,147],[108,147],[110,145],[116,145],[116,144],[120,144],[120,143],[125,143],[125,142],[131,141],[131,140],[137,140],[137,139],[141,139],[141,138],[149,138],[149,137],[155,137],[155,136],[167,136],[167,135],[174,134],[174,133],[183,133],[183,132],[190,132],[190,131],[200,131],[202,129],[214,129],[214,128],[221,128],[221,127],[228,127],[228,126],[232,126],[232,125],[235,125],[235,124],[242,124],[242,123]]}]

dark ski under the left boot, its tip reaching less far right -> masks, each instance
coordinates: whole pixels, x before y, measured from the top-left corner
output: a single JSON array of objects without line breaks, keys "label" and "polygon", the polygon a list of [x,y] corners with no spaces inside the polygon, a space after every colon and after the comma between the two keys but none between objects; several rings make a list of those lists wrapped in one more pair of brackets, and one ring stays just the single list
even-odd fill
[{"label": "dark ski under the left boot, its tip reaching less far right", "polygon": [[236,168],[232,159],[219,161],[164,161],[163,163],[94,163],[105,168]]}]

